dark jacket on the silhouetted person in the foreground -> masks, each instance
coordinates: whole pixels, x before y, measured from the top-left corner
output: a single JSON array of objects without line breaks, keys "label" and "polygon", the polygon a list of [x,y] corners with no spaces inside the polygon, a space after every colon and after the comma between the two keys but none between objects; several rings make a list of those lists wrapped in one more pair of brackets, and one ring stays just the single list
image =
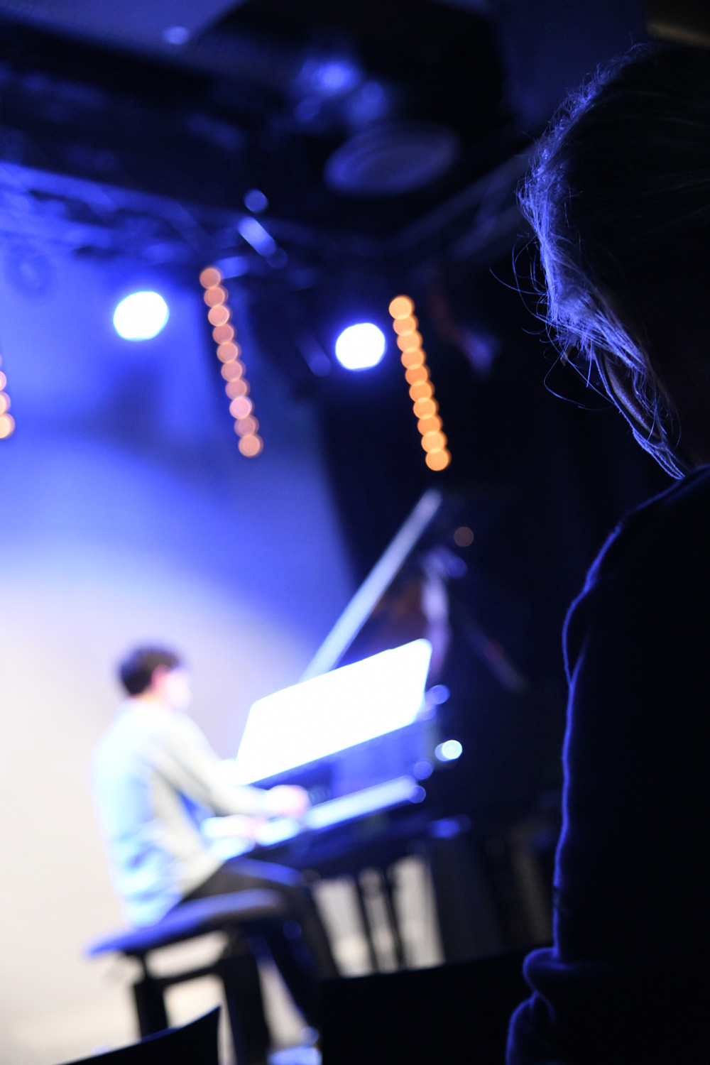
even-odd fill
[{"label": "dark jacket on the silhouetted person in the foreground", "polygon": [[630,513],[564,633],[555,947],[508,1063],[710,1062],[710,468]]}]

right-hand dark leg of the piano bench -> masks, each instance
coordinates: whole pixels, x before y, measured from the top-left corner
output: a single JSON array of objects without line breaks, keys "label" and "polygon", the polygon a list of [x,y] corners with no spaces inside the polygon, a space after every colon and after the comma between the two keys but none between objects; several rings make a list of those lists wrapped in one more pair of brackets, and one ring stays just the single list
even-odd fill
[{"label": "right-hand dark leg of the piano bench", "polygon": [[240,1065],[265,1065],[270,1044],[257,960],[247,943],[231,937],[215,966],[222,982]]}]

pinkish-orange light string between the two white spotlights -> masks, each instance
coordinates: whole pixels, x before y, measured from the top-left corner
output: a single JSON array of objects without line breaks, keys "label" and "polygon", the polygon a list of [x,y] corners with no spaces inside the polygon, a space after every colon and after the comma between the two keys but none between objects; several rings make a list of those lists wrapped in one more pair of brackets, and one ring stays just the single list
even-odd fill
[{"label": "pinkish-orange light string between the two white spotlights", "polygon": [[221,362],[225,392],[230,398],[229,412],[234,419],[234,431],[240,438],[240,450],[252,459],[263,450],[264,441],[258,433],[259,422],[253,415],[253,402],[249,398],[249,382],[241,359],[242,348],[236,343],[236,330],[231,323],[229,293],[222,284],[224,278],[216,266],[207,266],[200,274],[200,284],[204,289],[204,302],[210,308],[208,318],[212,326],[212,337],[217,345],[217,358]]}]

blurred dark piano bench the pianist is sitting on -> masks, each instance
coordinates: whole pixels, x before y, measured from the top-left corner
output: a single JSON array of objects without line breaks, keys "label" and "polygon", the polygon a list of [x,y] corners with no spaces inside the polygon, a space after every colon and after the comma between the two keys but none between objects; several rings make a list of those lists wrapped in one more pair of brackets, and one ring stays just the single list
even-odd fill
[{"label": "blurred dark piano bench the pianist is sitting on", "polygon": [[[168,1028],[164,993],[174,984],[216,976],[222,983],[237,1060],[243,1065],[265,1061],[269,1034],[264,1018],[255,958],[246,938],[261,927],[283,916],[284,901],[277,891],[260,888],[215,895],[184,902],[158,921],[96,939],[86,948],[89,957],[119,953],[141,963],[141,977],[133,984],[133,1001],[141,1036]],[[148,966],[153,950],[184,943],[210,932],[226,932],[224,953],[212,965],[154,976]],[[246,1019],[246,1023],[245,1023]]]}]

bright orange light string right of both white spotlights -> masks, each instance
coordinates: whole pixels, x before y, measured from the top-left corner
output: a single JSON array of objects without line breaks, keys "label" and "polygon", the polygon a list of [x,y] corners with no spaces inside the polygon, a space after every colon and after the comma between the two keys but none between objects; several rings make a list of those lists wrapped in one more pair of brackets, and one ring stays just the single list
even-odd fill
[{"label": "bright orange light string right of both white spotlights", "polygon": [[414,316],[414,301],[409,296],[395,296],[390,304],[390,314],[392,327],[397,333],[397,347],[401,351],[410,398],[414,403],[426,463],[430,470],[445,470],[451,456],[446,447],[447,439],[442,429],[439,404],[434,399],[427,355],[422,347],[422,333],[417,329],[419,323]]}]

